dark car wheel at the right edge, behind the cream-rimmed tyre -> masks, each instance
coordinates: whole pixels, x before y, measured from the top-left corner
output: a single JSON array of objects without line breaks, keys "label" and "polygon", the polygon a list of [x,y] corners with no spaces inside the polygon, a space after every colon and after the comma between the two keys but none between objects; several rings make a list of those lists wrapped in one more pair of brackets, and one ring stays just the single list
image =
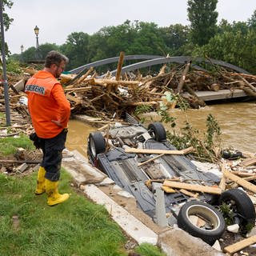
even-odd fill
[{"label": "dark car wheel at the right edge, behind the cream-rimmed tyre", "polygon": [[242,233],[247,233],[254,226],[255,208],[246,192],[238,189],[226,190],[221,194],[219,203],[224,218],[230,224],[237,223]]}]

